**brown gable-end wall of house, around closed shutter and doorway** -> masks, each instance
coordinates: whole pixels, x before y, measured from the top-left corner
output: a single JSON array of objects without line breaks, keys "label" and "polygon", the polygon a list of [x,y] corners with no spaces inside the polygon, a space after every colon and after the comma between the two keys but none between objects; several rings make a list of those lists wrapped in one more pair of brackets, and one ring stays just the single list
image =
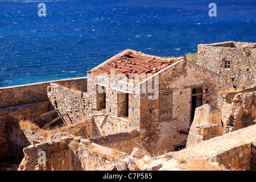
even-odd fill
[{"label": "brown gable-end wall of house, around closed shutter and doorway", "polygon": [[159,97],[149,100],[148,94],[141,94],[141,142],[148,151],[174,151],[175,146],[183,145],[187,135],[180,130],[188,131],[191,117],[192,88],[203,87],[203,104],[217,105],[216,73],[197,66],[187,60],[179,61],[159,73],[159,92],[172,91],[172,119],[159,119]]}]

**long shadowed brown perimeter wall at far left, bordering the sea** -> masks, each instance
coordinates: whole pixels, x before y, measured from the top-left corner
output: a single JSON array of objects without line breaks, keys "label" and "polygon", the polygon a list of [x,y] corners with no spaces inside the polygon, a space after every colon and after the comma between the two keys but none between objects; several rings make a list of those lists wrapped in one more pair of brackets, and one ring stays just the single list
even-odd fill
[{"label": "long shadowed brown perimeter wall at far left, bordering the sea", "polygon": [[[32,120],[53,110],[47,96],[47,86],[51,82],[86,91],[86,80],[87,77],[80,77],[0,88],[0,160],[19,158],[22,148],[29,143],[17,140],[17,136],[24,137],[16,126],[19,119]],[[52,114],[35,123],[42,127],[54,117]]]}]

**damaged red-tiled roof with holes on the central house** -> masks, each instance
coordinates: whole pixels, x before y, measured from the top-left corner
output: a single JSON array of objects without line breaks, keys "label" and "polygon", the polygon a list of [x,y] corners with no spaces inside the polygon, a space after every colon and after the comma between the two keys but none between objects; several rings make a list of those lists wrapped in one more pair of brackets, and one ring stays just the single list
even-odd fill
[{"label": "damaged red-tiled roof with holes on the central house", "polygon": [[185,57],[158,57],[126,49],[93,68],[89,73],[93,75],[100,75],[101,73],[110,74],[110,69],[115,69],[115,75],[118,73],[123,73],[126,76],[135,73],[137,73],[135,75],[145,75],[147,73],[154,75],[168,67],[168,65],[174,64],[182,59],[185,59]]}]

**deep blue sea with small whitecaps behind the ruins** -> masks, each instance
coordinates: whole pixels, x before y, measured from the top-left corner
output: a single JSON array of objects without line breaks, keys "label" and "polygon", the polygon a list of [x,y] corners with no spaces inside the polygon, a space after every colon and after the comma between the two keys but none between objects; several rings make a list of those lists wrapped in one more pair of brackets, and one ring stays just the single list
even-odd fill
[{"label": "deep blue sea with small whitecaps behind the ruins", "polygon": [[255,0],[0,0],[0,87],[83,77],[127,48],[181,56],[229,40],[256,42]]}]

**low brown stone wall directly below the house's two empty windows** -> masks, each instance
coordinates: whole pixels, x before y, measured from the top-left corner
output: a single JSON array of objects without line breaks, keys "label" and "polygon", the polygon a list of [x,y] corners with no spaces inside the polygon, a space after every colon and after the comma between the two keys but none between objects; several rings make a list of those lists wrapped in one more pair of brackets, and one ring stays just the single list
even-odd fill
[{"label": "low brown stone wall directly below the house's two empty windows", "polygon": [[89,140],[101,146],[131,154],[133,148],[139,146],[139,131],[133,130],[130,133],[111,134]]}]

